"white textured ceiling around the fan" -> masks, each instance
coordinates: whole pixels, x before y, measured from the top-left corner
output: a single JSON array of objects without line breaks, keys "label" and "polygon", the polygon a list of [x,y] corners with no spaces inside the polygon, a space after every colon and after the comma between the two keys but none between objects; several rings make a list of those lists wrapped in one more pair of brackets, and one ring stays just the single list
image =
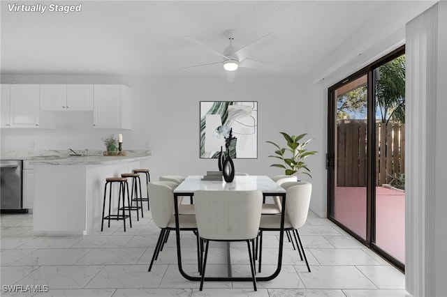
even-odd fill
[{"label": "white textured ceiling around the fan", "polygon": [[[249,58],[284,67],[281,75],[302,75],[387,5],[386,1],[59,1],[82,3],[82,10],[41,14],[10,12],[8,3],[12,2],[1,1],[2,74],[110,75],[223,75],[216,65],[179,68],[221,61],[185,36],[222,52],[228,46],[223,36],[227,29],[238,31],[233,43],[237,48],[275,33],[276,40]],[[237,75],[268,73],[243,68]]]}]

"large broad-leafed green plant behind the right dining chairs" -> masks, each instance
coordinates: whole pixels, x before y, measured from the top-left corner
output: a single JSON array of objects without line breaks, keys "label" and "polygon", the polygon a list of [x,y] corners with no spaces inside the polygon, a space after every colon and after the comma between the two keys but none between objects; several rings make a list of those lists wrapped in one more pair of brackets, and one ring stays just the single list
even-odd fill
[{"label": "large broad-leafed green plant behind the right dining chairs", "polygon": [[[307,151],[306,146],[312,141],[312,138],[300,143],[301,139],[303,139],[307,133],[298,136],[288,135],[286,132],[280,133],[284,136],[284,139],[286,139],[288,147],[281,148],[274,142],[268,142],[278,148],[277,151],[274,151],[275,155],[269,155],[269,157],[281,159],[284,164],[272,164],[270,167],[285,169],[286,175],[306,174],[312,178],[310,175],[311,172],[304,161],[309,155],[315,155],[317,153],[316,151]],[[286,157],[286,152],[289,152],[291,156]]]}]

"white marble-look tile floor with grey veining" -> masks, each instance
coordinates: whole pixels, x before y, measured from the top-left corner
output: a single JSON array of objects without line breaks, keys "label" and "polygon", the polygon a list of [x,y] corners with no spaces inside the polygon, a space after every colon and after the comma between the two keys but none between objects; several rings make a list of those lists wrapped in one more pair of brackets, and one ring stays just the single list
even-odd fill
[{"label": "white marble-look tile floor with grey veining", "polygon": [[[126,232],[122,222],[112,222],[83,237],[45,236],[32,224],[31,214],[0,216],[1,296],[409,296],[400,271],[312,212],[300,230],[312,273],[286,242],[281,273],[258,282],[258,291],[251,282],[205,282],[199,291],[198,282],[179,274],[173,234],[147,272],[159,234],[149,211]],[[258,275],[276,268],[278,239],[276,232],[265,232]],[[246,245],[231,246],[233,275],[249,276]],[[182,248],[184,270],[198,275],[196,239],[189,232],[182,234]],[[211,243],[206,275],[224,276],[226,270],[223,244]],[[8,285],[22,287],[11,292]]]}]

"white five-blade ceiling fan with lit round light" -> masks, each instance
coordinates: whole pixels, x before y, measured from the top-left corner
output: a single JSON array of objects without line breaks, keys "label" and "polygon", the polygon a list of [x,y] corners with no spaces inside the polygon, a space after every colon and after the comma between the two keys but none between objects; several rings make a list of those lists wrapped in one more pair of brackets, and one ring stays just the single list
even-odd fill
[{"label": "white five-blade ceiling fan with lit round light", "polygon": [[196,38],[193,38],[191,36],[186,36],[185,38],[192,43],[196,43],[196,45],[200,45],[201,47],[204,47],[206,50],[212,52],[213,54],[220,56],[223,58],[222,61],[214,62],[214,63],[207,63],[207,64],[201,64],[191,67],[182,68],[182,70],[185,69],[191,69],[196,67],[202,67],[202,66],[209,66],[209,65],[215,65],[215,64],[221,64],[223,66],[223,69],[227,71],[228,76],[228,82],[233,82],[234,79],[234,71],[237,70],[237,68],[257,68],[257,69],[264,69],[264,70],[274,70],[279,71],[282,69],[280,66],[276,66],[273,64],[261,62],[261,61],[255,61],[251,59],[247,59],[248,56],[256,52],[260,47],[265,45],[266,43],[269,43],[270,41],[277,38],[277,36],[274,33],[268,33],[266,36],[263,36],[259,38],[258,40],[255,40],[253,43],[250,43],[249,45],[246,45],[239,50],[233,45],[233,40],[235,39],[235,36],[237,34],[236,30],[227,30],[223,32],[223,35],[230,40],[230,45],[226,47],[223,50],[223,53],[217,52],[216,50],[213,50],[212,48],[205,45],[205,43],[201,42],[200,40],[197,40]]}]

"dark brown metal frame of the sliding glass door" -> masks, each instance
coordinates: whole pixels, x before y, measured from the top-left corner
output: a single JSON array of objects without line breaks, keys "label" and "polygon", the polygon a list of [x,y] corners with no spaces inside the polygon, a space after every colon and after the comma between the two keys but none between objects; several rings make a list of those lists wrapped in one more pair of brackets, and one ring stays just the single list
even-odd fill
[{"label": "dark brown metal frame of the sliding glass door", "polygon": [[[363,245],[367,246],[374,252],[378,253],[381,257],[386,259],[394,266],[400,269],[400,271],[405,271],[405,264],[397,260],[388,252],[382,250],[375,244],[375,233],[376,233],[376,170],[375,170],[375,160],[376,160],[376,100],[375,91],[373,86],[374,82],[374,70],[379,66],[396,59],[398,56],[405,54],[405,45],[398,47],[393,52],[386,54],[380,59],[370,63],[368,66],[356,71],[352,75],[349,75],[345,79],[337,82],[336,84],[328,88],[328,150],[326,153],[326,169],[328,178],[328,190],[327,190],[327,203],[328,211],[327,218],[337,224],[340,228],[346,231],[348,234],[356,238]],[[333,215],[333,204],[335,201],[335,123],[336,123],[336,100],[334,98],[335,90],[344,84],[348,84],[354,79],[358,79],[363,75],[367,75],[367,201],[366,201],[366,236],[362,238],[358,234],[354,233],[348,227],[344,226],[341,222],[338,222]]]}]

